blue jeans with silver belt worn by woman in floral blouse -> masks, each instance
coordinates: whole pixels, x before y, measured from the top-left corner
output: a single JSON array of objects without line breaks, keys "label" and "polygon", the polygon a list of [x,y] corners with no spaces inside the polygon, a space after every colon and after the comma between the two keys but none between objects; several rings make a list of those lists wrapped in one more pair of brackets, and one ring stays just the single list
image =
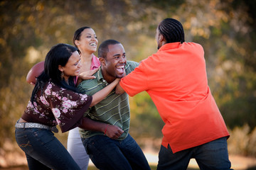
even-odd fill
[{"label": "blue jeans with silver belt worn by woman in floral blouse", "polygon": [[80,169],[50,130],[16,128],[15,137],[26,154],[29,169]]}]

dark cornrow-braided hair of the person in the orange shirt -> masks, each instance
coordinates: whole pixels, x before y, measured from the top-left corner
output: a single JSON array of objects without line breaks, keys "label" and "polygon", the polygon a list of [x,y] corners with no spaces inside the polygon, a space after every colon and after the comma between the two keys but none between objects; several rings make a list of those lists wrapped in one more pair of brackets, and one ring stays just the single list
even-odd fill
[{"label": "dark cornrow-braided hair of the person in the orange shirt", "polygon": [[164,36],[166,43],[185,41],[182,24],[174,18],[165,18],[158,26],[159,33]]}]

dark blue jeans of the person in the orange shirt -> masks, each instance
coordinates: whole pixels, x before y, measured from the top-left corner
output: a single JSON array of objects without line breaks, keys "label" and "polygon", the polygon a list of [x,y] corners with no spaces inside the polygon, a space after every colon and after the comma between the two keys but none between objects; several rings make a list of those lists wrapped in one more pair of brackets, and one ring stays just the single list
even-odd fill
[{"label": "dark blue jeans of the person in the orange shirt", "polygon": [[196,159],[200,169],[230,169],[227,137],[213,140],[198,147],[185,149],[175,154],[171,147],[161,145],[157,170],[187,169],[191,158]]}]

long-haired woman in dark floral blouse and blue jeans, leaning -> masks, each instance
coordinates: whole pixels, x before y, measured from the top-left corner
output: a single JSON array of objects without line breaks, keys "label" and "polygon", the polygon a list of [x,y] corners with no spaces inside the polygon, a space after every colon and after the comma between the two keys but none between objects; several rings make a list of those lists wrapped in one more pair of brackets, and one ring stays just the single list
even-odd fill
[{"label": "long-haired woman in dark floral blouse and blue jeans, leaning", "polygon": [[84,117],[85,111],[105,98],[119,82],[116,79],[93,96],[80,94],[75,78],[80,72],[80,51],[71,45],[53,46],[37,78],[31,100],[16,123],[16,142],[25,152],[29,169],[80,169],[52,132],[76,127],[97,130],[109,137],[122,134],[116,126]]}]

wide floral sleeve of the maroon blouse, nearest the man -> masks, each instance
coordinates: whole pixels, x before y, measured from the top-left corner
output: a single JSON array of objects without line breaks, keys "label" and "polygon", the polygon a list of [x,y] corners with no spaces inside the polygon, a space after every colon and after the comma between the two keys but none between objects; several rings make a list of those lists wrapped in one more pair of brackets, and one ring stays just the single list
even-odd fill
[{"label": "wide floral sleeve of the maroon blouse, nearest the man", "polygon": [[78,127],[80,119],[92,103],[92,96],[78,94],[55,84],[48,84],[44,96],[62,132]]}]

